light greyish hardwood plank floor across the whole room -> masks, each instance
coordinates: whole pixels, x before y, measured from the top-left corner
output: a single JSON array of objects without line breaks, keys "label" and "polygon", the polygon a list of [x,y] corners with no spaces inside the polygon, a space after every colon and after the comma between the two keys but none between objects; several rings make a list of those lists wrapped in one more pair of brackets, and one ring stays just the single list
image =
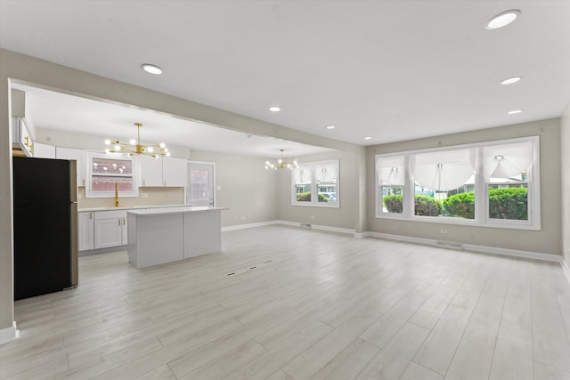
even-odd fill
[{"label": "light greyish hardwood plank floor across the whole room", "polygon": [[570,379],[555,263],[267,226],[79,266],[77,289],[15,303],[2,379]]}]

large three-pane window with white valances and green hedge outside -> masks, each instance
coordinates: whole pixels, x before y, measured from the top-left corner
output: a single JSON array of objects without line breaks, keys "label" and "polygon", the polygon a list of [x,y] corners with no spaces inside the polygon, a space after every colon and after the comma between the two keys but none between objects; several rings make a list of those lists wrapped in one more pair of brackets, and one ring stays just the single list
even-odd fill
[{"label": "large three-pane window with white valances and green hedge outside", "polygon": [[539,137],[377,155],[376,216],[540,230]]}]

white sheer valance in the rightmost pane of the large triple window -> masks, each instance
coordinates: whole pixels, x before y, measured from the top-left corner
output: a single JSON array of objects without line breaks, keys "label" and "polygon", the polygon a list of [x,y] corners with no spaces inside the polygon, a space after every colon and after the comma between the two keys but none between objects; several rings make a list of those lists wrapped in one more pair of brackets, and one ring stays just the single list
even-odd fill
[{"label": "white sheer valance in the rightmost pane of the large triple window", "polygon": [[521,174],[533,163],[532,141],[493,145],[483,148],[483,175],[493,178],[509,178]]}]

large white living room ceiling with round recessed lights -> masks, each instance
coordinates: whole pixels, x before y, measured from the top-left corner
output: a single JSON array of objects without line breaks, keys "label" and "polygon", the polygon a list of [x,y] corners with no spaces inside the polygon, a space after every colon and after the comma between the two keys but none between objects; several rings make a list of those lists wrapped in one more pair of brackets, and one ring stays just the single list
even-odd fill
[{"label": "large white living room ceiling with round recessed lights", "polygon": [[[485,29],[509,9],[513,24]],[[0,46],[362,145],[559,117],[570,102],[564,0],[0,0]]]}]

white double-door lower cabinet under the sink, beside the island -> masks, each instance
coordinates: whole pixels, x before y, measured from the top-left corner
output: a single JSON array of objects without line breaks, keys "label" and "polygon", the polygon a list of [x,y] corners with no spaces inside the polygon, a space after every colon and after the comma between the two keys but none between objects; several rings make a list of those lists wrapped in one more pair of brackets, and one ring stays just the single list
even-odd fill
[{"label": "white double-door lower cabinet under the sink, beside the island", "polygon": [[94,212],[94,249],[126,245],[126,211]]}]

